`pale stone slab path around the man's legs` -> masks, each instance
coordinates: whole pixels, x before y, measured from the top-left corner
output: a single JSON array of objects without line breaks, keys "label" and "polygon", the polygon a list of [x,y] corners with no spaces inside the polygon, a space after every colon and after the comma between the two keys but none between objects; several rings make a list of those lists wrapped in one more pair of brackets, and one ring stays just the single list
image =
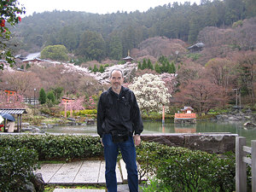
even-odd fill
[{"label": "pale stone slab path around the man's legs", "polygon": [[[104,160],[80,160],[61,164],[43,164],[36,173],[42,173],[44,183],[79,185],[79,184],[102,184],[105,181]],[[116,167],[118,190],[129,191],[125,163],[120,160]],[[54,192],[102,192],[105,189],[55,189]]]}]

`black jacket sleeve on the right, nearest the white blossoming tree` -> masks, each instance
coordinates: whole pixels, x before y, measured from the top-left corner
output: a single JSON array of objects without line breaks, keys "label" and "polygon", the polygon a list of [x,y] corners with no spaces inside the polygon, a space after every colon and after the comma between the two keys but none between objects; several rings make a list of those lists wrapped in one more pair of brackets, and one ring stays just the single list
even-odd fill
[{"label": "black jacket sleeve on the right, nearest the white blossoming tree", "polygon": [[137,104],[137,99],[134,93],[131,91],[131,121],[133,124],[134,134],[141,134],[143,132],[143,119],[140,113],[140,109]]}]

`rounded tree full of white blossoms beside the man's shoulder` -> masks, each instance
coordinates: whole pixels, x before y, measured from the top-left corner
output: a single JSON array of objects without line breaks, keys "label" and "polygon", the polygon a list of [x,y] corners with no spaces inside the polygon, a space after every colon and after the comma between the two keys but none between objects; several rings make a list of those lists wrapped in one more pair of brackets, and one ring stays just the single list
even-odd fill
[{"label": "rounded tree full of white blossoms beside the man's shoulder", "polygon": [[142,111],[161,112],[162,107],[169,103],[171,95],[168,93],[166,84],[158,75],[143,74],[142,77],[134,79],[129,85],[137,97],[137,103]]}]

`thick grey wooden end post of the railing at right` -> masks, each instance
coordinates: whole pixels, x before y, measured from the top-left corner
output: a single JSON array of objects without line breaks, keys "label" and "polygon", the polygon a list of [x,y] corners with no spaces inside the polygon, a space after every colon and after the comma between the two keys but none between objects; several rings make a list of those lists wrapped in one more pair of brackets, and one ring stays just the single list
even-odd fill
[{"label": "thick grey wooden end post of the railing at right", "polygon": [[245,137],[236,137],[236,192],[247,191],[247,164],[242,160],[246,154],[242,149],[245,145]]}]

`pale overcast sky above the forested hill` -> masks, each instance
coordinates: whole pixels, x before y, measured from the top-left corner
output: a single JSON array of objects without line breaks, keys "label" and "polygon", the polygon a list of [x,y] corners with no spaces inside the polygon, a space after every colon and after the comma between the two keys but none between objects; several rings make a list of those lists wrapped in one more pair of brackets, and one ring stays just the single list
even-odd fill
[{"label": "pale overcast sky above the forested hill", "polygon": [[[164,4],[190,2],[199,4],[201,0],[18,0],[26,8],[26,15],[53,10],[85,11],[93,14],[112,14],[117,11],[147,11]],[[26,16],[23,15],[23,16]]]}]

